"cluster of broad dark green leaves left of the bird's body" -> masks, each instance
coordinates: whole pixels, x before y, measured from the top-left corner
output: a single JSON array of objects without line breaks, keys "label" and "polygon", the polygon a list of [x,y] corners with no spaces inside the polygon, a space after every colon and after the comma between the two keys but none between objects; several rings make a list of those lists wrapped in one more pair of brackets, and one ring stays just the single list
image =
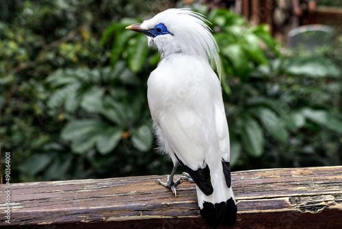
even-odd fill
[{"label": "cluster of broad dark green leaves left of the bird's body", "polygon": [[[56,106],[64,105],[70,122],[61,137],[72,141],[71,149],[77,154],[88,152],[94,145],[100,154],[109,154],[122,138],[130,136],[136,149],[146,152],[152,147],[145,88],[124,62],[116,62],[114,69],[66,69],[48,78],[59,88],[48,106],[55,111]],[[85,115],[78,116],[79,110]]]}]

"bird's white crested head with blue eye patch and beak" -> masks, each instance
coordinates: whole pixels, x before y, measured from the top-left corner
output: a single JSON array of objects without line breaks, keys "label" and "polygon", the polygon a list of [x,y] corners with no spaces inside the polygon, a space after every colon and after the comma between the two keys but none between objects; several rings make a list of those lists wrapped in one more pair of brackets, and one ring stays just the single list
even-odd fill
[{"label": "bird's white crested head with blue eye patch and beak", "polygon": [[145,34],[148,46],[157,47],[162,58],[172,53],[198,56],[220,71],[218,45],[206,22],[202,14],[189,9],[168,9],[126,29]]}]

